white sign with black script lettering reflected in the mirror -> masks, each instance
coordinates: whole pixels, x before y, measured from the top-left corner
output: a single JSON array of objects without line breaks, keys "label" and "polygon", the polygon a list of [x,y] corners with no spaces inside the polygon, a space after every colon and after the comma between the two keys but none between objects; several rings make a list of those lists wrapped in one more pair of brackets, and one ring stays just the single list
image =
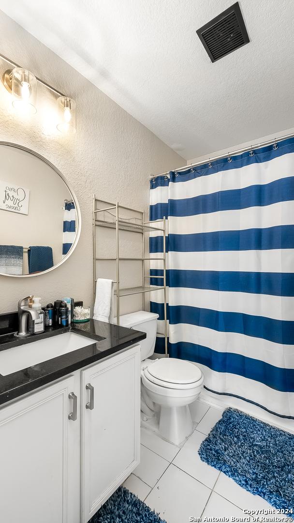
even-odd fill
[{"label": "white sign with black script lettering reflected in the mirror", "polygon": [[0,180],[0,209],[28,214],[29,198],[29,189]]}]

